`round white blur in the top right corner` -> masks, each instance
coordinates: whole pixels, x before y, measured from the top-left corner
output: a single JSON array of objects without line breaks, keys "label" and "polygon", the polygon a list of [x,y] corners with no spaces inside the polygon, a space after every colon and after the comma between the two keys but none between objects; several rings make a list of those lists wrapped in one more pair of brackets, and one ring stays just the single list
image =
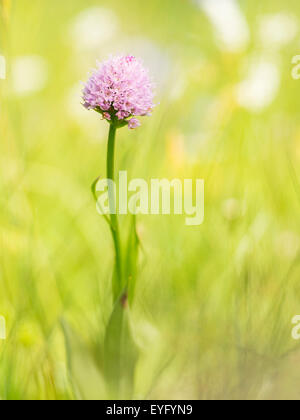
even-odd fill
[{"label": "round white blur in the top right corner", "polygon": [[291,42],[298,33],[298,20],[288,13],[265,15],[261,18],[259,36],[266,48],[280,48]]}]

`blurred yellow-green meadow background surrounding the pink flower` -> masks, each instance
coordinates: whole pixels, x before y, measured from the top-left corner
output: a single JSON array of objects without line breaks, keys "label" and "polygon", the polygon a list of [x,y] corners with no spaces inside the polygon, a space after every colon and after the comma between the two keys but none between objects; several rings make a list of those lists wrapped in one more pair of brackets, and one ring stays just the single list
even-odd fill
[{"label": "blurred yellow-green meadow background surrounding the pink flower", "polygon": [[1,0],[0,399],[76,398],[61,320],[88,343],[110,315],[108,127],[80,104],[110,53],[143,58],[159,103],[118,169],[206,183],[202,226],[138,217],[134,397],[300,397],[299,20],[298,0]]}]

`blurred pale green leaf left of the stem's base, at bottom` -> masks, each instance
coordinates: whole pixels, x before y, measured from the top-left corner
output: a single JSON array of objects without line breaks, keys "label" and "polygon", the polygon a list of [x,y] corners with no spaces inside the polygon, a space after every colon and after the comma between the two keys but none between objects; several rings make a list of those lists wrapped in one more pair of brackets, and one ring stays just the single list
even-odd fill
[{"label": "blurred pale green leaf left of the stem's base, at bottom", "polygon": [[61,325],[66,342],[70,379],[76,397],[81,400],[107,399],[105,379],[92,351],[65,320],[62,320]]}]

